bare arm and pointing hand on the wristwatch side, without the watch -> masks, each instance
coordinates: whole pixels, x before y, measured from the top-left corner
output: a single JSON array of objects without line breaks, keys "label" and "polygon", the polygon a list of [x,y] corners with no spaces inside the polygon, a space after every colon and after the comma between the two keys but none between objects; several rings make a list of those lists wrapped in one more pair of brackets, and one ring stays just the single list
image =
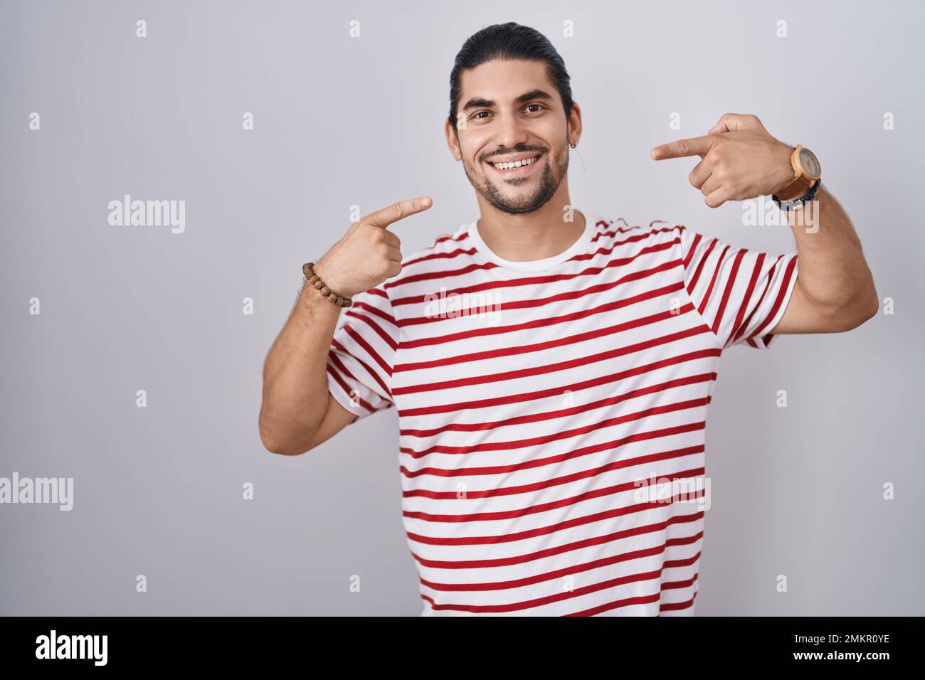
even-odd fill
[{"label": "bare arm and pointing hand on the wristwatch side, without the watch", "polygon": [[[793,180],[792,151],[771,137],[757,117],[725,114],[706,135],[660,144],[651,156],[700,156],[688,179],[715,208],[783,189]],[[824,184],[815,200],[787,213],[796,236],[796,282],[770,334],[842,332],[857,328],[880,307],[860,241],[842,206]],[[801,226],[809,222],[810,214],[801,214],[808,208],[811,226]]]}]

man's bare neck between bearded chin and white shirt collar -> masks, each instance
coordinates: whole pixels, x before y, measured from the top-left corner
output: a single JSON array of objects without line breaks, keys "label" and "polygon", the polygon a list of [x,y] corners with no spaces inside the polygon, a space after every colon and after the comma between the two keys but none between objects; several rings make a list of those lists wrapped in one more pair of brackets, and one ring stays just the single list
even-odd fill
[{"label": "man's bare neck between bearded chin and white shirt collar", "polygon": [[562,208],[553,198],[535,212],[512,215],[487,204],[482,206],[476,229],[491,252],[501,259],[542,260],[567,251],[585,231],[586,216],[573,209],[573,220],[569,222]]}]

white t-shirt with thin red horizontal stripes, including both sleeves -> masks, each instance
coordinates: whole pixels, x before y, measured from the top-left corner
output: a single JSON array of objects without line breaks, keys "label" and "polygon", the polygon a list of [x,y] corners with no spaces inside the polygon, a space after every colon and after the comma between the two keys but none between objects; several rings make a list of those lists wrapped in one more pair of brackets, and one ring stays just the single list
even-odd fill
[{"label": "white t-shirt with thin red horizontal stripes, including both sleeves", "polygon": [[425,615],[691,615],[720,354],[769,347],[796,253],[585,213],[563,253],[475,222],[354,297],[328,386],[394,406]]}]

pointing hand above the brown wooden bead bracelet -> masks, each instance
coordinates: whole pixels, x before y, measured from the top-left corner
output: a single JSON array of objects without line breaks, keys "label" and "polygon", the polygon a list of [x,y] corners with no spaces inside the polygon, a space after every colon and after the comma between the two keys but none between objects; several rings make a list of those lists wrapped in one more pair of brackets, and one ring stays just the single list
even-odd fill
[{"label": "pointing hand above the brown wooden bead bracelet", "polygon": [[314,265],[331,291],[345,298],[376,288],[401,272],[401,241],[388,226],[420,213],[433,202],[429,197],[400,201],[376,210],[351,224],[350,229]]}]

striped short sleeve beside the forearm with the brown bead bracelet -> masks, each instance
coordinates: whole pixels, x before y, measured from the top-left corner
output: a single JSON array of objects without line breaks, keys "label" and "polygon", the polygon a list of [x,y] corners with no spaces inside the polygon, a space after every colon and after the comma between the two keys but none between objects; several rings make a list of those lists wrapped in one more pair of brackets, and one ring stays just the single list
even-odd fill
[{"label": "striped short sleeve beside the forearm with the brown bead bracelet", "polygon": [[381,288],[354,295],[341,313],[327,353],[327,389],[351,414],[363,418],[394,405],[389,383],[397,329]]}]

